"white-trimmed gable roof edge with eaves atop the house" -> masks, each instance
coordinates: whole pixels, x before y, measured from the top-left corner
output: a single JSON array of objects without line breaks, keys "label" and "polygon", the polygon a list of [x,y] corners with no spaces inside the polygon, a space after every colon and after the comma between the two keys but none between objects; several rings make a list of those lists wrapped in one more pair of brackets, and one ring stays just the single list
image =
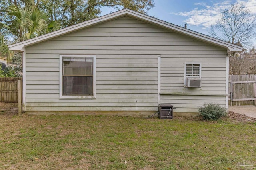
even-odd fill
[{"label": "white-trimmed gable roof edge with eaves atop the house", "polygon": [[154,17],[147,16],[145,14],[141,14],[139,12],[136,12],[136,11],[133,11],[133,10],[130,10],[130,9],[124,9],[124,10],[120,10],[120,11],[117,11],[117,12],[113,12],[111,14],[100,16],[98,18],[94,18],[92,20],[84,21],[84,22],[78,23],[76,25],[72,25],[72,26],[57,30],[57,31],[53,31],[53,32],[45,34],[45,35],[41,35],[39,37],[35,37],[35,38],[32,38],[32,39],[28,39],[26,41],[21,41],[19,43],[8,45],[8,47],[9,47],[10,50],[24,51],[24,47],[27,47],[27,46],[30,46],[30,45],[33,45],[33,44],[36,44],[36,43],[39,43],[39,42],[42,42],[42,41],[46,41],[48,39],[59,37],[61,35],[65,35],[67,33],[73,32],[73,31],[78,31],[80,29],[84,29],[84,28],[90,27],[92,25],[96,25],[96,24],[99,24],[99,23],[102,23],[102,22],[106,22],[106,21],[109,21],[109,20],[114,20],[116,18],[124,17],[124,16],[130,16],[130,17],[136,18],[138,20],[142,20],[142,21],[157,25],[159,27],[164,27],[166,29],[176,31],[176,32],[182,33],[184,35],[194,37],[196,39],[200,39],[200,40],[205,41],[207,43],[211,43],[211,44],[226,48],[227,52],[242,51],[242,49],[243,49],[241,46],[234,45],[232,43],[228,43],[226,41],[222,41],[220,39],[216,39],[216,38],[210,37],[208,35],[204,35],[202,33],[198,33],[196,31],[192,31],[190,29],[183,28],[183,27],[174,25],[172,23],[168,23],[166,21],[162,21],[162,20],[156,19]]}]

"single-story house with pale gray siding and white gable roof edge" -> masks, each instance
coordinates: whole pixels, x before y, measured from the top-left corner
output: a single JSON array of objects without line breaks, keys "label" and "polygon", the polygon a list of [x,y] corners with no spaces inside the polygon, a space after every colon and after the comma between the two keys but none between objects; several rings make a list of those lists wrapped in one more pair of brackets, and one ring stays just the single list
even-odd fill
[{"label": "single-story house with pale gray siding and white gable roof edge", "polygon": [[229,56],[242,51],[130,9],[8,47],[23,53],[23,111],[85,115],[228,109]]}]

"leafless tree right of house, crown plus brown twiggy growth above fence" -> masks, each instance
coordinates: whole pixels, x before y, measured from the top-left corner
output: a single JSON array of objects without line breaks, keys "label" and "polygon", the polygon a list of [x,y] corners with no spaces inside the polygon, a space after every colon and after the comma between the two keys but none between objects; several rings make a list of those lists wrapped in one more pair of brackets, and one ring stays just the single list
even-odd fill
[{"label": "leafless tree right of house, crown plus brown twiggy growth above fence", "polygon": [[[209,33],[218,39],[248,48],[256,35],[256,16],[250,14],[250,10],[243,4],[231,4],[220,14]],[[253,66],[250,55],[244,49],[240,57],[230,57],[229,74],[250,73],[249,67]]]}]

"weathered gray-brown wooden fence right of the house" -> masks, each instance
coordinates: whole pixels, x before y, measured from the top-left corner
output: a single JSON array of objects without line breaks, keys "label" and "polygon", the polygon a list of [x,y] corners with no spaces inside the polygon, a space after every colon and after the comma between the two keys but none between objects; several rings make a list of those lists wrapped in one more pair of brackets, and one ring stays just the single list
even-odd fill
[{"label": "weathered gray-brown wooden fence right of the house", "polygon": [[228,90],[230,105],[256,105],[256,75],[230,75]]}]

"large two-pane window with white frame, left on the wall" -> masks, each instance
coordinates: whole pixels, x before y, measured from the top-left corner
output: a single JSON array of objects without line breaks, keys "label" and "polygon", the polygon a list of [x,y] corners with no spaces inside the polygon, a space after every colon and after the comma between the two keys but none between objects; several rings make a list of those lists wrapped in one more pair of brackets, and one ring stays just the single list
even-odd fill
[{"label": "large two-pane window with white frame, left on the wall", "polygon": [[60,98],[95,98],[96,56],[60,55]]}]

